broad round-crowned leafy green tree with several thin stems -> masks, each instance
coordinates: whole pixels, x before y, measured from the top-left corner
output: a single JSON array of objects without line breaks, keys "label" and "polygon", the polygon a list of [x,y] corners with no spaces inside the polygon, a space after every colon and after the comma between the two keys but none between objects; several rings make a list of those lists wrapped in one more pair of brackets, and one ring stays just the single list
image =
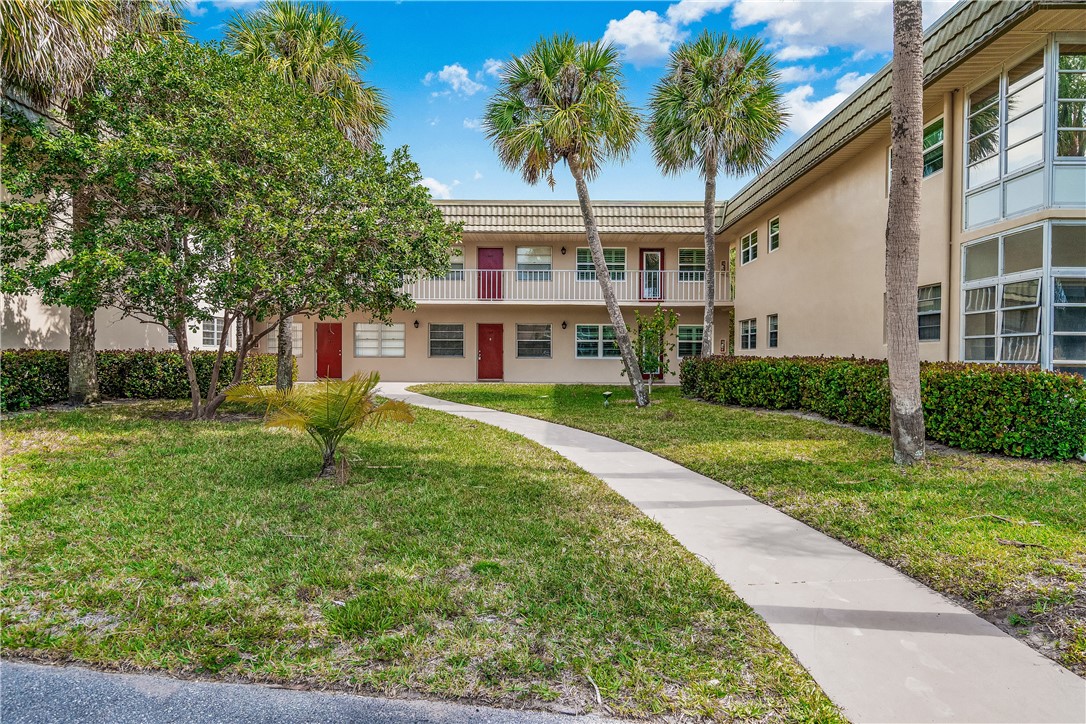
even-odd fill
[{"label": "broad round-crowned leafy green tree with several thin stems", "polygon": [[172,330],[193,418],[214,417],[270,329],[242,326],[232,371],[222,367],[224,334],[201,391],[190,321],[225,310],[229,329],[277,317],[283,304],[289,314],[367,309],[384,319],[411,304],[403,284],[447,267],[457,228],[418,186],[406,150],[387,158],[354,148],[308,89],[186,42],[114,52],[96,78],[103,90],[79,113],[98,132],[59,134],[18,169],[25,195],[48,198],[53,168],[73,156],[92,168],[94,253],[53,261],[52,237],[39,234],[34,274],[48,283],[94,269],[112,305]]}]

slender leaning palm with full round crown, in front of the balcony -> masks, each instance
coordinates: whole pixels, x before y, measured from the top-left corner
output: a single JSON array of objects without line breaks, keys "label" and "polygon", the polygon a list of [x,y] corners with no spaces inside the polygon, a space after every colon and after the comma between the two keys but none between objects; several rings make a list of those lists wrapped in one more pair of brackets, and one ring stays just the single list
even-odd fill
[{"label": "slender leaning palm with full round crown, in front of the balcony", "polygon": [[527,182],[546,178],[553,188],[554,167],[560,161],[569,167],[624,373],[637,406],[644,407],[648,395],[604,259],[588,187],[604,162],[630,155],[637,126],[637,115],[623,97],[615,48],[578,42],[568,35],[541,38],[528,53],[506,62],[483,120],[502,165],[519,170]]}]

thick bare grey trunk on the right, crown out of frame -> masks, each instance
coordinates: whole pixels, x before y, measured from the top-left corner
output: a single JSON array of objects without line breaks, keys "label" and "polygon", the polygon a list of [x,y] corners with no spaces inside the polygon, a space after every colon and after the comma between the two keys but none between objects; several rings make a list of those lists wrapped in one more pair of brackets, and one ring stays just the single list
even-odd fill
[{"label": "thick bare grey trunk on the right, crown out of frame", "polygon": [[923,173],[923,29],[921,0],[894,0],[889,208],[886,216],[886,360],[894,461],[924,457],[920,402],[917,275]]}]

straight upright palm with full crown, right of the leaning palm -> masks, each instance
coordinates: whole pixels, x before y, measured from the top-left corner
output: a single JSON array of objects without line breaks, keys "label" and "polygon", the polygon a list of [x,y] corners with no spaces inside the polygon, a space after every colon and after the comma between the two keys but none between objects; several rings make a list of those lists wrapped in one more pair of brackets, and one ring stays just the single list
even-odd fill
[{"label": "straight upright palm with full crown, right of the leaning palm", "polygon": [[788,117],[778,77],[760,40],[706,30],[672,51],[649,98],[656,164],[665,174],[696,168],[705,179],[704,356],[714,350],[717,174],[752,174],[769,162]]}]

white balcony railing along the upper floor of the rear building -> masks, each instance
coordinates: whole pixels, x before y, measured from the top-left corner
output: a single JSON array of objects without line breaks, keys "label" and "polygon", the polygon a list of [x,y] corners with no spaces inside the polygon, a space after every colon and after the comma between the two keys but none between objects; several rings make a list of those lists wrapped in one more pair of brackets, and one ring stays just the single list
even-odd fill
[{"label": "white balcony railing along the upper floor of the rear building", "polygon": [[[611,276],[620,304],[705,304],[705,275],[696,271],[626,271]],[[592,272],[456,269],[422,279],[407,291],[420,304],[603,304]],[[716,301],[731,302],[728,272],[716,272]]]}]

